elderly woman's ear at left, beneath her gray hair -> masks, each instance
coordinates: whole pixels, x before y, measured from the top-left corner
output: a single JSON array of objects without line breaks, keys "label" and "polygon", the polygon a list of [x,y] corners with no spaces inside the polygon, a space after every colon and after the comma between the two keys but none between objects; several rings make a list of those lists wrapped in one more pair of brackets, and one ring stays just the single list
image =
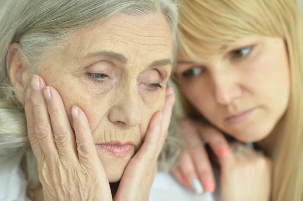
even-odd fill
[{"label": "elderly woman's ear at left, beneath her gray hair", "polygon": [[17,88],[16,97],[19,102],[23,103],[24,84],[29,79],[29,70],[18,43],[12,43],[10,45],[6,55],[6,62],[12,87]]}]

